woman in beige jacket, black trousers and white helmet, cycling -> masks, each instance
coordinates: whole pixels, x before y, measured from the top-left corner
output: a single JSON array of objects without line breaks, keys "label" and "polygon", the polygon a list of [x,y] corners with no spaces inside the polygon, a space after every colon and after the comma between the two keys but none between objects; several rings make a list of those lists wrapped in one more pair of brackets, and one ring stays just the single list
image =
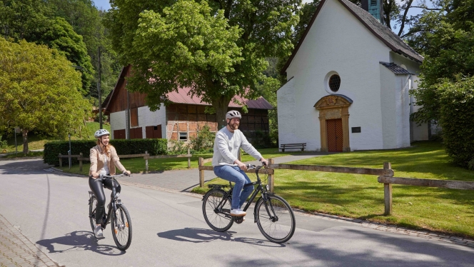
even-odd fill
[{"label": "woman in beige jacket, black trousers and white helmet, cycling", "polygon": [[[96,180],[99,174],[114,175],[115,167],[119,168],[120,171],[126,174],[130,174],[125,167],[120,163],[120,158],[117,156],[117,151],[114,146],[109,143],[110,133],[105,129],[97,130],[94,133],[94,137],[97,138],[97,146],[91,148],[91,168],[89,169],[89,187],[97,198],[96,208],[96,228],[94,229],[94,235],[96,237],[103,236],[102,233],[102,216],[106,204],[106,196],[104,194],[104,188],[112,189],[113,183],[116,183],[116,193],[119,194],[121,187],[117,181],[111,179]],[[113,163],[112,163],[113,162]],[[104,185],[104,186],[103,186]]]}]

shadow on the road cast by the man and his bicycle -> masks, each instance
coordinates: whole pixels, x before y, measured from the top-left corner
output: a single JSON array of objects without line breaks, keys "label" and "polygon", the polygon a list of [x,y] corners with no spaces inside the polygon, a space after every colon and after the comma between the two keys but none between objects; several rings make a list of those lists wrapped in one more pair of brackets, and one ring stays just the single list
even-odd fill
[{"label": "shadow on the road cast by the man and his bicycle", "polygon": [[256,246],[268,246],[268,247],[285,247],[283,244],[272,243],[263,239],[256,238],[233,238],[232,234],[236,232],[216,232],[209,229],[202,228],[183,228],[176,229],[166,232],[157,233],[161,238],[171,239],[175,241],[185,241],[191,243],[203,243],[211,241],[232,241],[248,243]]}]

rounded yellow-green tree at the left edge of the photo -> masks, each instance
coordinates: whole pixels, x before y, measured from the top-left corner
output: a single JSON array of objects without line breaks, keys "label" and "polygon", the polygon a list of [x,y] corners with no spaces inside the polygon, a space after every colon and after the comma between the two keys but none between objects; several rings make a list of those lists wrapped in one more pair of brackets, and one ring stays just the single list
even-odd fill
[{"label": "rounded yellow-green tree at the left edge of the photo", "polygon": [[80,90],[81,74],[56,49],[0,37],[0,128],[22,129],[24,153],[33,129],[65,136],[79,128],[91,111]]}]

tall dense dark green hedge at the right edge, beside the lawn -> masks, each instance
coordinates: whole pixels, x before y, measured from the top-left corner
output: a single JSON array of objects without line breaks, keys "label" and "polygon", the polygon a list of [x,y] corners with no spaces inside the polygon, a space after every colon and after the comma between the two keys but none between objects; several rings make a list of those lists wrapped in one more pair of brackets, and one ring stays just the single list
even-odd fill
[{"label": "tall dense dark green hedge at the right edge, beside the lawn", "polygon": [[474,76],[444,81],[440,92],[440,126],[446,152],[454,163],[468,168],[474,159]]}]

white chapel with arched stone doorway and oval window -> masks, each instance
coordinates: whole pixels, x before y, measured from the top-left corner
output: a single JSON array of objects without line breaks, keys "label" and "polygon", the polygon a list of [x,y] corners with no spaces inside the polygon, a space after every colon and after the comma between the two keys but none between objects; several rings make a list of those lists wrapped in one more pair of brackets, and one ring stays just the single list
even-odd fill
[{"label": "white chapel with arched stone doorway and oval window", "polygon": [[283,68],[279,143],[354,151],[428,139],[430,126],[409,119],[423,56],[380,22],[380,2],[321,1]]}]

